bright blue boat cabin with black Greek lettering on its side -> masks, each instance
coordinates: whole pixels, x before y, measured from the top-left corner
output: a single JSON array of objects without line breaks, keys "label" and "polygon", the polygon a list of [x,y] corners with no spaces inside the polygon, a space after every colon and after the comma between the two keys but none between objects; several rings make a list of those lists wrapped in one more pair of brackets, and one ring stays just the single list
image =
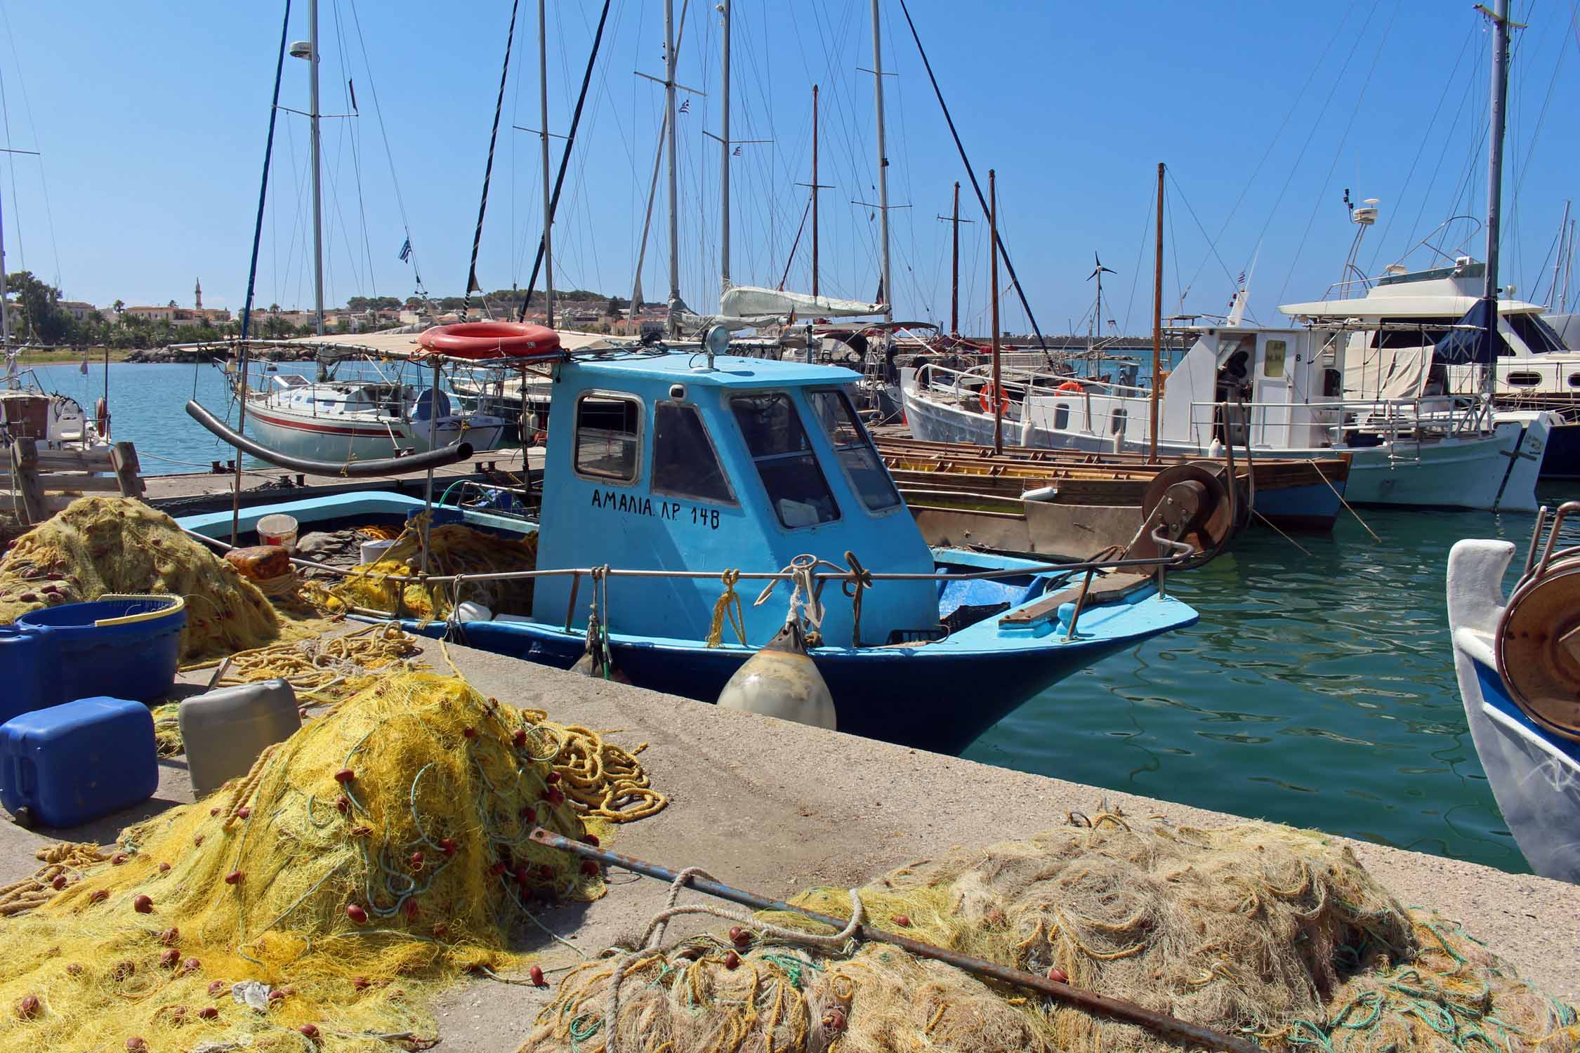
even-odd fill
[{"label": "bright blue boat cabin with black Greek lettering on its side", "polygon": [[[744,357],[630,350],[555,365],[537,567],[779,570],[845,553],[885,571],[931,575],[934,557],[847,395],[848,369]],[[539,578],[532,620],[586,624],[589,586]],[[611,578],[611,631],[708,636],[717,578]],[[762,605],[738,586],[746,641],[784,625],[788,583]],[[823,638],[850,646],[852,601],[823,597]],[[935,581],[864,590],[861,641],[937,627]],[[738,643],[725,627],[725,643]]]}]

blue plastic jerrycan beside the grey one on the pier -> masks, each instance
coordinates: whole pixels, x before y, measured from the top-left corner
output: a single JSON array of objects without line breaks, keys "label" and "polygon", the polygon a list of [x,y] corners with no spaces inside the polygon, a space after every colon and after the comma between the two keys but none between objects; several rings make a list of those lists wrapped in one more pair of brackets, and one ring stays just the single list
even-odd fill
[{"label": "blue plastic jerrycan beside the grey one on the pier", "polygon": [[153,714],[123,698],[82,698],[0,726],[0,804],[41,826],[73,827],[147,800],[160,786]]}]

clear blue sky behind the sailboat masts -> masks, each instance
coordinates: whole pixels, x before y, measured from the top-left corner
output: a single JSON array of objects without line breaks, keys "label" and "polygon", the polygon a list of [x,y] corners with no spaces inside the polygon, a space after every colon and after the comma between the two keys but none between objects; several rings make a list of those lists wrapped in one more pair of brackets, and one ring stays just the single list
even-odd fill
[{"label": "clear blue sky behind the sailboat masts", "polygon": [[[408,295],[397,259],[409,223],[422,278],[460,294],[477,216],[510,8],[321,2],[329,300]],[[676,0],[679,11],[681,0]],[[882,0],[896,208],[896,314],[946,319],[951,183],[964,182],[897,0]],[[1580,196],[1580,36],[1569,3],[1515,0],[1517,36],[1504,196],[1506,281],[1545,298],[1566,197]],[[0,166],[6,262],[57,278],[71,298],[107,305],[240,308],[258,204],[283,3],[134,5],[3,0],[0,41],[13,156]],[[550,125],[564,131],[599,5],[548,5]],[[1155,166],[1169,164],[1164,311],[1221,311],[1232,276],[1256,257],[1253,314],[1316,298],[1340,276],[1352,235],[1341,205],[1379,197],[1382,221],[1360,262],[1371,273],[1441,219],[1485,208],[1490,36],[1468,2],[1109,5],[912,0],[923,43],[984,183],[999,171],[1003,237],[1033,311],[1062,332],[1090,309],[1092,254],[1108,278],[1108,317],[1149,325]],[[307,2],[291,38],[307,35]],[[629,295],[657,142],[662,5],[616,0],[555,224],[556,286]],[[488,223],[485,289],[525,283],[539,237],[536,5],[523,3],[506,90]],[[365,46],[365,58],[363,58]],[[694,2],[679,76],[706,95],[678,122],[683,295],[717,295],[719,19]],[[877,287],[872,79],[867,3],[735,3],[733,276],[774,286],[801,223],[811,177],[811,85],[822,85],[822,290]],[[374,111],[382,109],[392,166]],[[25,96],[25,98],[24,98]],[[307,109],[307,63],[286,58],[281,103]],[[1542,117],[1544,104],[1547,107]],[[305,251],[307,122],[281,112],[256,300],[311,306]],[[558,164],[561,141],[555,141]],[[359,178],[360,172],[360,178]],[[397,202],[395,188],[404,200]],[[667,292],[664,199],[643,290]],[[1518,194],[1515,194],[1518,189]],[[46,207],[47,191],[47,207]],[[962,189],[962,328],[986,330],[986,224]],[[1204,229],[1207,234],[1204,234]],[[1221,232],[1221,234],[1220,234]],[[1462,235],[1463,235],[1462,229]],[[1209,237],[1210,235],[1210,237]],[[809,232],[788,287],[809,286]],[[1258,249],[1259,246],[1259,249]],[[1482,256],[1480,240],[1473,251]],[[1417,256],[1411,262],[1425,262]],[[1138,275],[1139,272],[1139,275]],[[1022,328],[1013,297],[1005,327]]]}]

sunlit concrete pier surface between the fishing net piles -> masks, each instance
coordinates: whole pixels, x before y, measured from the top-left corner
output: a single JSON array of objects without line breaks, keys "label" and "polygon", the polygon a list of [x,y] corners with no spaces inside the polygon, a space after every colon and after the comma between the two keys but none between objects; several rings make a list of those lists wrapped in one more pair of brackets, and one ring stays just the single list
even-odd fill
[{"label": "sunlit concrete pier surface between the fishing net piles", "polygon": [[[439,644],[425,658],[446,671]],[[648,742],[641,763],[670,807],[623,826],[616,851],[672,868],[697,865],[719,881],[774,897],[814,884],[850,887],[954,845],[1024,838],[1065,823],[1068,810],[1100,802],[1147,818],[1221,826],[1239,816],[1027,775],[973,761],[856,739],[750,714],[591,680],[469,647],[449,657],[471,684],[551,720],[578,723],[623,745]],[[199,674],[207,679],[209,671]],[[186,677],[198,680],[199,676]],[[114,840],[133,821],[191,800],[185,759],[161,763],[158,794],[123,815],[76,830],[28,832],[0,824],[0,882],[36,868],[33,849],[55,840]],[[1255,815],[1256,802],[1245,800]],[[1463,922],[1531,982],[1580,999],[1580,889],[1488,867],[1335,838],[1398,900]],[[662,908],[667,887],[613,871],[608,895],[540,914],[544,925],[596,955],[637,939]],[[692,897],[694,894],[687,894]],[[700,897],[698,897],[700,898]],[[683,919],[687,920],[687,919]],[[672,935],[690,931],[679,922]],[[540,954],[553,982],[581,958],[540,928],[523,927],[518,947]],[[453,988],[438,1009],[444,1048],[512,1051],[548,1001],[547,990],[493,980]]]}]

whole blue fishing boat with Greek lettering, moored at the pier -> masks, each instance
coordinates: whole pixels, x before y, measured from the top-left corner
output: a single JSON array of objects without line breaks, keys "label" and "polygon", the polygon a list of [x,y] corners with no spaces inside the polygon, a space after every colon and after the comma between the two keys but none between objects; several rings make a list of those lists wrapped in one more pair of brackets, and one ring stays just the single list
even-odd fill
[{"label": "whole blue fishing boat with Greek lettering, moored at the pier", "polygon": [[[460,512],[477,529],[536,532],[536,564],[518,568],[534,579],[529,609],[408,617],[408,630],[561,668],[607,647],[632,682],[714,701],[795,613],[841,731],[954,753],[1049,685],[1198,617],[1158,589],[1160,553],[1190,526],[1168,508],[1136,559],[1100,568],[931,549],[852,406],[848,369],[611,347],[559,352],[550,371],[537,521]],[[242,529],[272,513],[307,532],[422,507],[327,496],[243,510]],[[231,516],[182,524],[220,538]],[[441,584],[468,598],[466,579]]]}]

